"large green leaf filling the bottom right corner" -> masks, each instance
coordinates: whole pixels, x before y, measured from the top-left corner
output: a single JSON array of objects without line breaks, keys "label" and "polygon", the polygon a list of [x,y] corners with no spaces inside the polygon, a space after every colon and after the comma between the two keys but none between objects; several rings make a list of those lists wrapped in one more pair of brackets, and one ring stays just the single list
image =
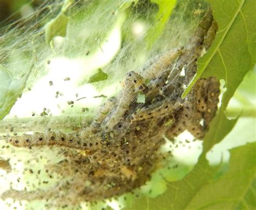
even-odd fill
[{"label": "large green leaf filling the bottom right corner", "polygon": [[211,167],[201,156],[191,173],[170,183],[163,195],[142,197],[129,209],[254,209],[255,150],[256,143],[232,149],[228,170],[220,177],[214,175],[220,167]]}]

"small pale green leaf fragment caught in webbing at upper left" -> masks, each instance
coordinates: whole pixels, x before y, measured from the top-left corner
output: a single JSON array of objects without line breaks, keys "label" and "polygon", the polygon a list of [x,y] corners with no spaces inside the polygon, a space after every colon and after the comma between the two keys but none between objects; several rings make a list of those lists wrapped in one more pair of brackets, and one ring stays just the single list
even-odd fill
[{"label": "small pale green leaf fragment caught in webbing at upper left", "polygon": [[50,44],[56,36],[66,36],[66,28],[69,23],[69,17],[66,17],[62,12],[45,25],[45,42]]}]

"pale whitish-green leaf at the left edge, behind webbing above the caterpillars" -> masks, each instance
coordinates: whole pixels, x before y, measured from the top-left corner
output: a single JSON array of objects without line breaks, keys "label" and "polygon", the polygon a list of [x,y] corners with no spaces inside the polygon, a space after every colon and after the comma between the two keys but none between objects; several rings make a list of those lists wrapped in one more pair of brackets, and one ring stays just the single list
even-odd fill
[{"label": "pale whitish-green leaf at the left edge, behind webbing above the caterpillars", "polygon": [[11,107],[21,96],[32,67],[33,64],[28,73],[23,75],[21,79],[16,79],[8,69],[0,64],[0,120],[9,114]]}]

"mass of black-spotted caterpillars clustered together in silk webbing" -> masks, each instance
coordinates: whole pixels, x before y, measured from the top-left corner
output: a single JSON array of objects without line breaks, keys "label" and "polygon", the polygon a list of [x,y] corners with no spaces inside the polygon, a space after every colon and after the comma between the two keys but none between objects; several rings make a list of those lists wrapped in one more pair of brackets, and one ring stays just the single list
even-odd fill
[{"label": "mass of black-spotted caterpillars clustered together in silk webbing", "polygon": [[[60,147],[64,161],[44,167],[72,179],[69,183],[60,180],[47,191],[10,189],[2,198],[53,199],[59,205],[110,198],[150,178],[161,159],[157,151],[164,143],[163,135],[173,139],[187,130],[203,139],[217,111],[219,82],[214,77],[200,78],[184,99],[181,94],[216,31],[208,9],[186,46],[167,51],[139,73],[128,72],[122,91],[106,100],[90,126],[69,134],[7,136],[8,143],[30,150]],[[136,102],[139,93],[145,95],[145,103]]]}]

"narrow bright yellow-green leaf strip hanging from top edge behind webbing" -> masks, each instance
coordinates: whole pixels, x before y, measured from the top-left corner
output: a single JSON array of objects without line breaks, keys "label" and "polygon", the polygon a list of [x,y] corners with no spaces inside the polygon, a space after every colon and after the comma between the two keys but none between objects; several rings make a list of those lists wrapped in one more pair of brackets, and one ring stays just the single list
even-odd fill
[{"label": "narrow bright yellow-green leaf strip hanging from top edge behind webbing", "polygon": [[155,17],[156,23],[147,31],[145,37],[149,49],[163,32],[165,24],[169,20],[172,10],[176,5],[176,0],[151,0],[151,2],[158,4],[159,10]]}]

